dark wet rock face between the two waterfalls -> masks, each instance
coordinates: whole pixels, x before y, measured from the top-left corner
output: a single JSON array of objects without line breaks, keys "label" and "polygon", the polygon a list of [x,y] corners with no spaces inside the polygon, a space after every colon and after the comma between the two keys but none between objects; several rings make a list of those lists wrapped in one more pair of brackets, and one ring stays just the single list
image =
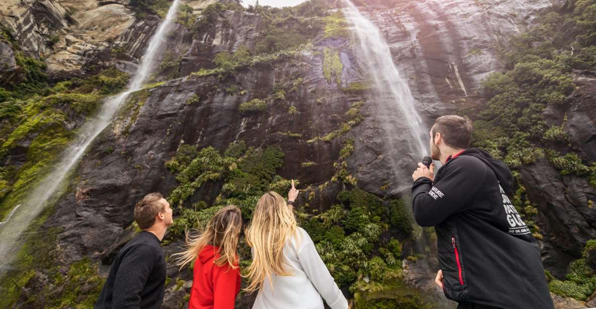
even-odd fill
[{"label": "dark wet rock face between the two waterfalls", "polygon": [[[305,169],[302,162],[333,166],[341,140],[306,140],[336,130],[342,124],[338,115],[343,115],[358,97],[334,93],[335,100],[324,105],[316,103],[318,95],[333,92],[336,87],[322,77],[320,65],[320,59],[313,61],[310,55],[303,55],[275,67],[266,65],[242,72],[229,83],[251,91],[238,96],[226,94],[222,89],[226,86],[214,77],[185,77],[132,94],[129,105],[80,163],[80,180],[72,184],[73,193],[57,203],[56,213],[48,220],[50,226],[64,227],[58,235],[58,244],[63,248],[61,259],[99,259],[114,250],[113,244],[132,222],[134,203],[150,191],[167,194],[175,187],[164,162],[182,143],[197,144],[199,148],[212,146],[221,152],[235,140],[254,147],[278,144],[285,153],[284,168],[278,174],[300,179],[303,184],[330,179],[333,169]],[[284,102],[269,102],[267,112],[249,116],[238,111],[240,103],[266,96],[274,80],[291,83],[297,76],[303,78],[303,84],[288,92]],[[200,98],[198,102],[188,103],[195,95]],[[291,105],[296,106],[297,113],[287,112]],[[190,202],[210,203],[217,194],[209,188],[201,189]],[[330,203],[313,207],[323,210]]]}]

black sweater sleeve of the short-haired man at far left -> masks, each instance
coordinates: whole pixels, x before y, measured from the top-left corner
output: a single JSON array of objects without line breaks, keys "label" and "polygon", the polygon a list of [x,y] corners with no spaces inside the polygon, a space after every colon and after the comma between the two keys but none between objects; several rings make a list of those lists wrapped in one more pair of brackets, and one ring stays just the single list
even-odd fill
[{"label": "black sweater sleeve of the short-haired man at far left", "polygon": [[150,245],[132,246],[120,261],[114,280],[112,307],[132,309],[141,307],[142,289],[153,271],[157,254]]}]

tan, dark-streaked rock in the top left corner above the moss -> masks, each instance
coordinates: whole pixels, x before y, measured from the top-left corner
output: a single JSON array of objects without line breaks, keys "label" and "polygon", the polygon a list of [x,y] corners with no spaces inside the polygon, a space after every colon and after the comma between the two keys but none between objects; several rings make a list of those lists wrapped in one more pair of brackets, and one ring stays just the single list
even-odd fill
[{"label": "tan, dark-streaked rock in the top left corner above the moss", "polygon": [[2,1],[0,23],[51,77],[96,73],[144,52],[159,18],[139,20],[128,1]]}]

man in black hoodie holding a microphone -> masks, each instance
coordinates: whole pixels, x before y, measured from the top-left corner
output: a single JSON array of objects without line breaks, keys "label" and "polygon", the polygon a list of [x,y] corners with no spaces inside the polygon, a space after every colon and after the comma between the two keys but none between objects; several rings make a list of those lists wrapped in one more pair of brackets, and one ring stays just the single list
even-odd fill
[{"label": "man in black hoodie holding a microphone", "polygon": [[434,226],[436,282],[458,308],[554,308],[538,244],[508,196],[513,175],[503,162],[468,149],[472,127],[460,116],[430,130],[434,163],[412,174],[418,225]]}]

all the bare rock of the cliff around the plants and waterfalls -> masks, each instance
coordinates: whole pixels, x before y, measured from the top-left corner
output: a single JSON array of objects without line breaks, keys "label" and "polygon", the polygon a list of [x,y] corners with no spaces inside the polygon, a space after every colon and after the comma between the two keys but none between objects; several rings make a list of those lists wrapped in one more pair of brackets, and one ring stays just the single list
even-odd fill
[{"label": "all the bare rock of the cliff around the plants and waterfalls", "polygon": [[[214,2],[188,1],[187,5],[198,15]],[[563,5],[562,0],[365,2],[367,6],[361,11],[389,43],[393,61],[408,80],[418,112],[429,128],[436,116],[483,104],[480,83],[501,69],[496,56],[499,45],[532,24],[541,10]],[[341,6],[339,1],[331,5]],[[152,14],[139,18],[128,1],[8,0],[0,4],[0,13],[2,25],[21,50],[43,58],[48,73],[58,80],[85,77],[112,66],[134,71],[160,21]],[[300,179],[302,185],[312,185],[315,190],[316,185],[334,176],[333,165],[340,163],[343,140],[353,138],[355,150],[346,162],[358,179],[357,187],[392,197],[408,190],[409,166],[419,158],[401,149],[384,150],[387,130],[377,119],[386,113],[387,106],[371,89],[349,90],[350,84],[367,81],[374,74],[363,67],[361,59],[366,55],[352,49],[349,35],[319,33],[299,52],[258,62],[224,81],[215,75],[192,74],[213,68],[213,56],[218,52],[234,52],[241,46],[254,52],[262,35],[261,21],[262,16],[254,12],[226,10],[219,12],[208,27],[194,30],[184,23],[176,25],[156,65],[154,81],[163,83],[129,98],[117,119],[83,157],[69,183],[70,190],[42,225],[42,229],[58,231],[51,247],[58,266],[64,268],[90,258],[105,272],[110,256],[132,235],[135,201],[148,192],[168,193],[176,186],[164,162],[181,144],[194,144],[199,149],[212,146],[221,152],[238,140],[254,147],[277,144],[285,153],[278,174]],[[331,68],[325,64],[330,61],[330,48],[340,61],[336,75],[328,74]],[[14,81],[19,70],[13,48],[0,42],[0,81]],[[567,130],[573,149],[593,162],[596,126],[592,116],[596,115],[592,115],[591,89],[596,80],[584,75],[576,80],[579,89],[567,111]],[[271,99],[278,84],[286,87],[285,96]],[[268,98],[265,112],[240,111],[241,103],[263,98]],[[322,138],[342,131],[350,121],[350,107],[361,101],[366,102],[359,110],[361,123],[349,125],[341,138]],[[553,112],[551,118],[563,116]],[[395,130],[400,131],[403,124],[399,119],[395,122]],[[398,158],[397,167],[390,164],[390,157]],[[308,162],[315,166],[305,167],[309,165],[303,163]],[[581,257],[585,242],[596,238],[596,211],[588,203],[596,198],[596,191],[583,178],[561,176],[548,162],[524,166],[521,174],[527,193],[539,205],[538,225],[545,235],[544,265],[561,278],[569,262]],[[191,203],[212,203],[220,187],[201,187]],[[342,187],[328,186],[319,203],[311,203],[311,210],[329,209]],[[301,202],[309,200],[306,192],[300,196]],[[166,253],[174,253],[178,245],[168,245]],[[432,276],[432,267],[409,263],[409,269],[407,282],[433,289],[420,279]],[[27,283],[20,304],[30,304],[25,301],[34,297],[47,279],[43,273],[40,270]],[[180,283],[167,287],[164,307],[184,305],[190,290],[189,274],[179,274],[169,263],[168,276]],[[249,306],[250,298],[239,305]]]}]

